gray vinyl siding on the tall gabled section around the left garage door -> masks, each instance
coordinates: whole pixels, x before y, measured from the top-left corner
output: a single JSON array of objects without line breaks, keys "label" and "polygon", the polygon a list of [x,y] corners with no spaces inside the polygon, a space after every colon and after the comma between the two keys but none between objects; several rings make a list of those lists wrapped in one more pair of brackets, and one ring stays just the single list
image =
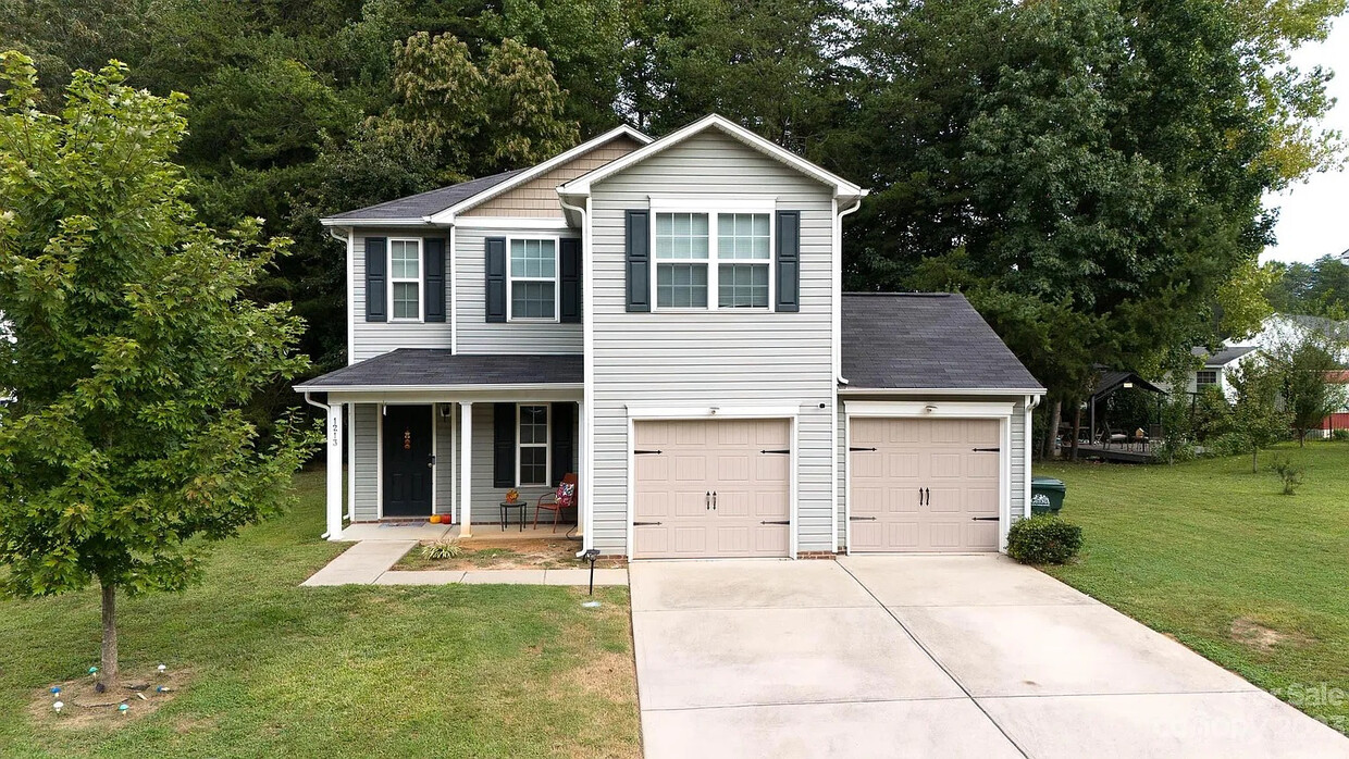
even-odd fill
[{"label": "gray vinyl siding on the tall gabled section around the left garage door", "polygon": [[[800,210],[800,313],[626,313],[623,212],[649,208],[653,194],[704,194],[714,212],[719,197],[770,194],[778,210]],[[591,197],[596,547],[627,553],[629,403],[776,403],[799,408],[797,549],[831,550],[831,190],[704,132],[600,182]]]}]

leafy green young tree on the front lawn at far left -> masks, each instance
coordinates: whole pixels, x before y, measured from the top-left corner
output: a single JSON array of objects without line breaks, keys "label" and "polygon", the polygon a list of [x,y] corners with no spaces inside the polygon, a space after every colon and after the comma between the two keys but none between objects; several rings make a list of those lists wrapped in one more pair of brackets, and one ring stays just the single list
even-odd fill
[{"label": "leafy green young tree on the front lawn at far left", "polygon": [[100,685],[117,679],[119,590],[179,590],[202,542],[290,502],[317,430],[241,413],[302,371],[289,306],[241,297],[285,241],[221,239],[183,201],[179,94],[76,71],[59,116],[36,70],[0,71],[0,562],[5,589],[103,593]]}]

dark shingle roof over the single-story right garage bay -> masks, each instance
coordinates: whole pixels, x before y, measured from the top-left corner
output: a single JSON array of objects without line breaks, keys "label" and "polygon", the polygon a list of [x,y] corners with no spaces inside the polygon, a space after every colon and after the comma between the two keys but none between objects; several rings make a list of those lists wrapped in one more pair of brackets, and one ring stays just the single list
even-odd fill
[{"label": "dark shingle roof over the single-story right garage bay", "polygon": [[1040,383],[963,295],[843,295],[850,388],[1036,390]]}]

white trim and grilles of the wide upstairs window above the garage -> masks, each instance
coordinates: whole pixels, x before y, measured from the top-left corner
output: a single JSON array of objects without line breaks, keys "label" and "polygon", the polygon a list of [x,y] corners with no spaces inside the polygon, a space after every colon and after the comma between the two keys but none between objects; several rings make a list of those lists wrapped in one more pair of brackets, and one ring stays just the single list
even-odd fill
[{"label": "white trim and grilles of the wide upstairs window above the garage", "polygon": [[[764,205],[766,202],[769,205]],[[749,202],[735,202],[735,201],[749,201]],[[652,274],[648,278],[650,293],[652,313],[674,313],[674,314],[704,314],[708,311],[731,311],[731,313],[749,313],[749,314],[772,314],[777,311],[777,278],[773,276],[774,268],[777,267],[777,213],[774,208],[774,201],[772,195],[746,195],[745,198],[727,198],[724,201],[718,201],[718,209],[712,210],[707,205],[706,198],[697,198],[696,205],[692,200],[685,201],[684,198],[666,197],[657,198],[652,197],[652,221],[650,232],[648,240],[648,249],[652,252]],[[707,214],[707,257],[706,259],[661,259],[656,255],[656,214],[658,213],[700,213]],[[768,216],[768,259],[720,259],[719,239],[716,233],[716,224],[720,216],[726,214],[751,214],[759,213]],[[656,297],[656,283],[660,279],[660,266],[661,263],[674,263],[674,264],[689,264],[701,263],[707,266],[707,307],[696,306],[673,306],[662,307],[658,305]],[[768,306],[750,306],[741,309],[720,307],[720,264],[758,264],[768,266]]]}]

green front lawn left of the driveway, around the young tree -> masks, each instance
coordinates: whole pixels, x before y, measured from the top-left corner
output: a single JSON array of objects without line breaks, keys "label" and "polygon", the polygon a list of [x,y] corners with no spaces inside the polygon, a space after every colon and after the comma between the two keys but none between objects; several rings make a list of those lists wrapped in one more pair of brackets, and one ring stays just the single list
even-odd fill
[{"label": "green front lawn left of the driveway, around the young tree", "polygon": [[[119,604],[123,670],[192,682],[142,719],[70,728],[28,704],[97,663],[94,592],[0,601],[4,756],[637,756],[627,589],[298,588],[322,476],[291,515],[220,545],[183,595]],[[132,702],[132,709],[135,709]]]}]

